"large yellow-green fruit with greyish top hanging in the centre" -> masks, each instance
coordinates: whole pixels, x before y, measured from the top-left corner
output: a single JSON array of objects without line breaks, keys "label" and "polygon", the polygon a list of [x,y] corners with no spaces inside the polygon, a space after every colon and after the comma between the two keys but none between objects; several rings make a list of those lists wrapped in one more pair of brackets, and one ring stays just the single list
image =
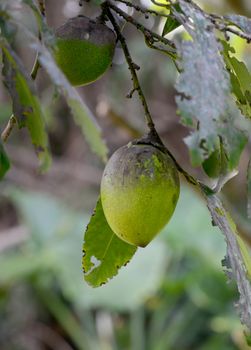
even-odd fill
[{"label": "large yellow-green fruit with greyish top hanging in the centre", "polygon": [[116,235],[145,247],[170,220],[179,191],[178,172],[169,155],[152,145],[129,143],[106,165],[101,202]]}]

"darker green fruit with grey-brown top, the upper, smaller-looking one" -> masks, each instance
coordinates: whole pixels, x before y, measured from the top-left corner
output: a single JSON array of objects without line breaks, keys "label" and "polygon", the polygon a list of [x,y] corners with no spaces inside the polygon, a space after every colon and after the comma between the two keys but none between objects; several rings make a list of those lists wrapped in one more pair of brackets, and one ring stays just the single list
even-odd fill
[{"label": "darker green fruit with grey-brown top, the upper, smaller-looking one", "polygon": [[110,67],[116,36],[106,25],[78,16],[59,27],[56,37],[55,59],[72,85],[89,84]]}]

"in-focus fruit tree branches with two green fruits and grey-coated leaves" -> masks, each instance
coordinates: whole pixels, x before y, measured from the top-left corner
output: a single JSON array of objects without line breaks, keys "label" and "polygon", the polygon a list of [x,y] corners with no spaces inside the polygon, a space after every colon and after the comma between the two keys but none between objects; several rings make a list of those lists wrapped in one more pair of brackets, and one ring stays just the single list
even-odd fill
[{"label": "in-focus fruit tree branches with two green fruits and grey-coated leaves", "polygon": [[[90,149],[107,163],[100,198],[84,236],[85,280],[93,287],[109,282],[138,247],[154,239],[175,215],[182,179],[203,196],[212,224],[225,237],[224,269],[236,281],[238,312],[251,331],[249,246],[221,196],[224,185],[238,173],[244,149],[248,149],[251,74],[236,53],[235,39],[250,44],[251,20],[237,13],[211,13],[206,5],[202,8],[193,0],[76,1],[80,7],[85,2],[95,7],[95,18],[81,14],[56,29],[47,23],[44,0],[0,2],[2,79],[13,107],[1,131],[0,178],[11,167],[5,145],[16,127],[27,129],[42,173],[53,161],[36,84],[38,72],[46,72]],[[20,20],[17,3],[33,13],[35,30]],[[156,23],[162,23],[162,27]],[[128,26],[141,35],[149,50],[163,55],[175,67],[177,118],[188,131],[184,141],[191,166],[199,167],[211,181],[204,183],[186,171],[175,151],[171,152],[161,140],[139,79],[138,71],[144,67],[139,67],[131,54],[130,37],[125,31]],[[16,50],[19,32],[27,39],[23,45],[34,54],[30,73]],[[107,160],[101,130],[76,87],[88,85],[86,88],[91,89],[92,83],[111,69],[116,50],[123,51],[132,81],[126,97],[138,99],[147,131],[121,144]],[[251,162],[246,174],[247,217],[251,217]]]}]

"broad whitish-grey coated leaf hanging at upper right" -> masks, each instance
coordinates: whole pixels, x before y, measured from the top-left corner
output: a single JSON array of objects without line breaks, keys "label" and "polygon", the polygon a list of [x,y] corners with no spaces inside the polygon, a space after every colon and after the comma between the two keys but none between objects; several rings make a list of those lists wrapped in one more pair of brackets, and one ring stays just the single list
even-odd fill
[{"label": "broad whitish-grey coated leaf hanging at upper right", "polygon": [[236,126],[241,114],[231,100],[229,74],[220,54],[222,50],[211,24],[204,14],[184,1],[183,14],[192,24],[186,26],[192,40],[178,43],[182,69],[176,88],[181,121],[195,129],[185,142],[192,164],[200,165],[217,149],[221,136],[233,169],[247,142],[247,136]]}]

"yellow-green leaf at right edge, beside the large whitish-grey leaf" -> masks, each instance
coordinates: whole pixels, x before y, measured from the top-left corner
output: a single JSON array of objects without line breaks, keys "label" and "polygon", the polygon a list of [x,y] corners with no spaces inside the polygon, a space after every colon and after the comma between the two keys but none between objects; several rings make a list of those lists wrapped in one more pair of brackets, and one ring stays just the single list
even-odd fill
[{"label": "yellow-green leaf at right edge, beside the large whitish-grey leaf", "polygon": [[222,41],[222,45],[223,57],[230,73],[232,93],[236,97],[236,104],[243,115],[251,118],[251,75],[244,62],[232,56],[235,53],[234,48],[225,41]]}]

